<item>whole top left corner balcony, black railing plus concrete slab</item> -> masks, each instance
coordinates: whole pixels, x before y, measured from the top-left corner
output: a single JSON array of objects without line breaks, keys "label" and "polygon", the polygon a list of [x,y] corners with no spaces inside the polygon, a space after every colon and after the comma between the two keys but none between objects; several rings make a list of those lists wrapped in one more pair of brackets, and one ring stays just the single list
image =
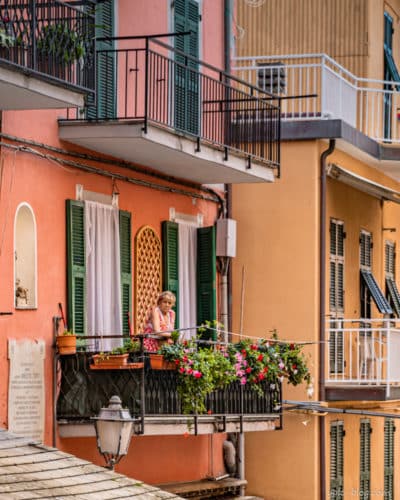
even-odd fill
[{"label": "whole top left corner balcony, black railing plus concrete slab", "polygon": [[85,10],[0,0],[0,109],[83,106],[94,90],[93,55],[94,18]]}]

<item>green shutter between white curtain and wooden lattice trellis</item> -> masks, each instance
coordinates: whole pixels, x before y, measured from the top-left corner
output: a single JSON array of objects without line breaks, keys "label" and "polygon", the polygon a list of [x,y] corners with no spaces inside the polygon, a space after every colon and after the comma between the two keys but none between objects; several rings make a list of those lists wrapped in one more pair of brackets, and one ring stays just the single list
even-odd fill
[{"label": "green shutter between white curtain and wooden lattice trellis", "polygon": [[119,241],[121,258],[122,333],[129,335],[128,314],[132,317],[132,236],[131,214],[119,211]]}]

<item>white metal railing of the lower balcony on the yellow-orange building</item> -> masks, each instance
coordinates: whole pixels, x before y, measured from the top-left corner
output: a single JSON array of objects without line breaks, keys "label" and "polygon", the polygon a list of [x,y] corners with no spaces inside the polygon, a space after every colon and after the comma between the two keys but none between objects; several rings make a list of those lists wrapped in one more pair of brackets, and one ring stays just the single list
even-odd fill
[{"label": "white metal railing of the lower balcony on the yellow-orange building", "polygon": [[328,384],[400,384],[399,320],[329,319],[326,341]]}]

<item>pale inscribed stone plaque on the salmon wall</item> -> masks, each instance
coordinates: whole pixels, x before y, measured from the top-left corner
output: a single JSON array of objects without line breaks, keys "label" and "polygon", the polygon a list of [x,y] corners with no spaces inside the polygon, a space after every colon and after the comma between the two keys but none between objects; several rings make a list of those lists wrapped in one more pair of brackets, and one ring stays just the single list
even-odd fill
[{"label": "pale inscribed stone plaque on the salmon wall", "polygon": [[8,429],[43,441],[45,343],[43,340],[9,340],[8,358]]}]

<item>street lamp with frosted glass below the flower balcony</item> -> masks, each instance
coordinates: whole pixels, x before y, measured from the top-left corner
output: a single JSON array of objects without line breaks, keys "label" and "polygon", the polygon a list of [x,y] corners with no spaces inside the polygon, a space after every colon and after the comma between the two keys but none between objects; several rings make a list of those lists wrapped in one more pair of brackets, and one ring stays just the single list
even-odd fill
[{"label": "street lamp with frosted glass below the flower balcony", "polygon": [[93,417],[97,448],[104,456],[106,468],[114,466],[128,453],[132,436],[133,419],[128,409],[122,408],[119,396],[112,396],[108,407]]}]

